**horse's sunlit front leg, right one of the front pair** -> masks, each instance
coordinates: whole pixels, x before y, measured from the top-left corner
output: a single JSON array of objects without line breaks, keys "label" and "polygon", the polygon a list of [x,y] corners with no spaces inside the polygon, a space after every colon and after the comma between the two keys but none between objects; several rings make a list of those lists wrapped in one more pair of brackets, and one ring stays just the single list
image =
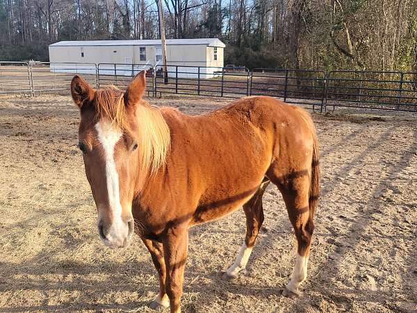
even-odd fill
[{"label": "horse's sunlit front leg, right one of the front pair", "polygon": [[167,268],[166,290],[170,298],[171,313],[181,312],[181,294],[188,251],[188,227],[170,227],[163,240]]}]

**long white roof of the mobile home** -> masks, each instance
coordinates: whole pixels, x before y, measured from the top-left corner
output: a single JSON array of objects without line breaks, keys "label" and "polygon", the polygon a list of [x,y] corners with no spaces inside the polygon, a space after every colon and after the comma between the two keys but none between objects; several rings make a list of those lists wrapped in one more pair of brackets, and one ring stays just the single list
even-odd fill
[{"label": "long white roof of the mobile home", "polygon": [[[167,39],[167,45],[206,45],[210,47],[226,47],[218,38],[195,38],[195,39]],[[60,41],[51,47],[65,46],[158,46],[160,39],[145,40],[83,40],[83,41]]]}]

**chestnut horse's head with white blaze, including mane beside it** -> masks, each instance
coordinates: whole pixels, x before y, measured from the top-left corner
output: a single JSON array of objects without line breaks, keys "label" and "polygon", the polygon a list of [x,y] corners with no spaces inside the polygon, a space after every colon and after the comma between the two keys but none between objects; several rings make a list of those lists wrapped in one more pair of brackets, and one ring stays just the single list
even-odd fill
[{"label": "chestnut horse's head with white blaze, including mane beside it", "polygon": [[138,181],[163,163],[169,145],[169,130],[163,135],[168,141],[165,150],[155,152],[149,143],[154,139],[147,134],[152,128],[149,116],[158,110],[142,100],[145,86],[144,71],[126,92],[115,87],[95,90],[79,76],[71,82],[72,99],[81,113],[79,148],[97,207],[99,234],[111,248],[129,246]]}]

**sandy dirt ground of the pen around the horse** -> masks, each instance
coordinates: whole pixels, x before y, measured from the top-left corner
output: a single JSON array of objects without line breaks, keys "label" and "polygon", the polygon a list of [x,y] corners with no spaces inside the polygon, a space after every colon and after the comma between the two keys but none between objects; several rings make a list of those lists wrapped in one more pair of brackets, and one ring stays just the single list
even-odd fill
[{"label": "sandy dirt ground of the pen around the horse", "polygon": [[[149,101],[188,113],[228,102]],[[190,231],[184,312],[416,312],[417,115],[313,118],[322,195],[304,294],[281,296],[295,238],[272,186],[236,280],[221,276],[243,241],[243,210]],[[99,240],[77,125],[70,97],[0,98],[0,312],[153,312],[158,282],[141,241],[110,250]]]}]

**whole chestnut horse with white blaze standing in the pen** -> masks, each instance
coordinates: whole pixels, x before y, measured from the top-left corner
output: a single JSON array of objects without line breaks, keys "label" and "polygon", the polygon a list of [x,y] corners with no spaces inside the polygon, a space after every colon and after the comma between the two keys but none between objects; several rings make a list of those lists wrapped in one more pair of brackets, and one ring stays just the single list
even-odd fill
[{"label": "whole chestnut horse with white blaze standing in the pen", "polygon": [[133,232],[152,255],[159,294],[151,307],[181,312],[188,229],[243,206],[246,236],[224,278],[245,268],[263,222],[262,195],[275,184],[297,237],[285,296],[306,279],[319,193],[318,141],[309,113],[272,97],[245,97],[190,116],[142,99],[145,72],[126,92],[95,90],[75,76],[79,148],[98,211],[101,240],[129,246]]}]

